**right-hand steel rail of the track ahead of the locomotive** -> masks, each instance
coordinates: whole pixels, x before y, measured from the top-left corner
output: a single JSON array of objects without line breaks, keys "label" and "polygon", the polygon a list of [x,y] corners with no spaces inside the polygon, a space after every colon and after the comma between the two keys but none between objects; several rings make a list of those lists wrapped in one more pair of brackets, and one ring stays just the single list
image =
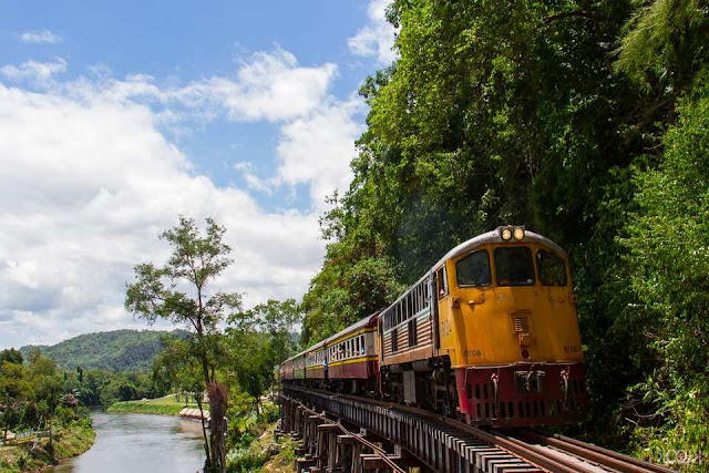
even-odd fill
[{"label": "right-hand steel rail of the track ahead of the locomotive", "polygon": [[634,459],[633,456],[624,455],[623,453],[614,452],[613,450],[604,449],[603,446],[594,445],[592,443],[582,442],[568,436],[553,434],[546,435],[535,430],[525,429],[520,432],[523,438],[530,439],[535,442],[553,446],[563,452],[576,455],[580,459],[596,462],[603,466],[621,473],[641,473],[641,472],[655,472],[655,473],[674,473],[675,471],[666,466],[657,465],[644,460]]}]

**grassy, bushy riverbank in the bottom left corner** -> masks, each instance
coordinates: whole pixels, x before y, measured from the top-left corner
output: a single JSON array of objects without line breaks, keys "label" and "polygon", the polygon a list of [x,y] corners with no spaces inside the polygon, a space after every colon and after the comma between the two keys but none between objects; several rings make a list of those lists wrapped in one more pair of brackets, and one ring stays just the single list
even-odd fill
[{"label": "grassy, bushy riverbank in the bottom left corner", "polygon": [[40,472],[49,466],[81,455],[93,445],[94,430],[85,423],[74,423],[54,434],[52,448],[49,439],[41,439],[32,449],[34,439],[0,446],[0,471],[3,473]]}]

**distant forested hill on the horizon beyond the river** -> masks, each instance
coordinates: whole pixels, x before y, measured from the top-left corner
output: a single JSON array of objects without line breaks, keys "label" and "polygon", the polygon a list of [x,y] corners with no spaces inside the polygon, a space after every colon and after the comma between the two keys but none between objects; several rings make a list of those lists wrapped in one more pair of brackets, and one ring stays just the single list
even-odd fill
[{"label": "distant forested hill on the horizon beyond the river", "polygon": [[153,358],[162,350],[162,338],[187,338],[185,330],[114,330],[80,335],[53,346],[31,346],[20,348],[23,356],[39,349],[65,369],[100,369],[110,371],[145,371],[152,368]]}]

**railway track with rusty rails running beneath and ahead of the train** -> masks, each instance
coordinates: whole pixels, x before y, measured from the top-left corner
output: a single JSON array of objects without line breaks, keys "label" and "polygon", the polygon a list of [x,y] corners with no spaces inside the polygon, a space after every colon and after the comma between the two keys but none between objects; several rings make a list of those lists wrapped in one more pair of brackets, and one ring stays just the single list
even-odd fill
[{"label": "railway track with rusty rails running beneath and ahead of the train", "polygon": [[[337,400],[339,398],[342,400],[357,402],[358,405],[363,405],[364,409],[367,408],[367,405],[370,405],[372,407],[372,409],[377,409],[380,412],[382,410],[390,411],[392,413],[392,417],[394,418],[397,417],[397,413],[402,413],[414,415],[417,419],[421,419],[424,422],[428,421],[431,424],[445,425],[450,429],[450,433],[453,438],[455,438],[455,435],[461,439],[474,438],[475,440],[487,444],[491,448],[495,448],[502,452],[506,452],[510,455],[518,459],[521,462],[524,462],[528,465],[530,469],[532,469],[528,471],[541,470],[553,473],[674,472],[674,470],[670,470],[668,467],[634,459],[631,456],[603,449],[590,443],[580,442],[578,440],[569,439],[563,435],[546,435],[532,429],[520,429],[513,431],[485,430],[414,407],[401,405],[392,402],[378,401],[350,394],[335,394],[332,392],[314,389],[290,388],[288,390],[296,397],[298,395],[298,393],[307,394],[310,401],[312,401],[314,399],[317,400],[318,398],[322,398],[327,399],[329,402],[333,402],[333,400]],[[323,403],[323,405],[327,403]],[[320,405],[319,408],[322,408],[322,405]],[[417,452],[410,453],[412,453],[414,456],[417,455]],[[424,459],[421,460],[427,463]],[[472,461],[472,459],[469,460]],[[429,466],[435,470],[435,466],[432,466],[430,462]],[[477,466],[479,465],[476,465],[476,467]],[[472,469],[471,471],[504,470],[485,470],[484,467],[477,467],[476,470]]]}]

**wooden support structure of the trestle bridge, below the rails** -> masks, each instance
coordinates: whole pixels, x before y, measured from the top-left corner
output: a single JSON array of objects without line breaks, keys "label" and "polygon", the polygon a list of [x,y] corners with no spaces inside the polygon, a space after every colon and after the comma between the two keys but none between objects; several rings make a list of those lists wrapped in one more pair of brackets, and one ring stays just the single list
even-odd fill
[{"label": "wooden support structure of the trestle bridge, below the rails", "polygon": [[[302,439],[301,449],[296,451],[299,472],[400,473],[411,466],[421,472],[541,472],[466,432],[395,407],[298,388],[286,389],[282,407],[284,431],[295,431]],[[339,423],[359,426],[370,440],[343,430],[319,412],[339,419]]]}]

